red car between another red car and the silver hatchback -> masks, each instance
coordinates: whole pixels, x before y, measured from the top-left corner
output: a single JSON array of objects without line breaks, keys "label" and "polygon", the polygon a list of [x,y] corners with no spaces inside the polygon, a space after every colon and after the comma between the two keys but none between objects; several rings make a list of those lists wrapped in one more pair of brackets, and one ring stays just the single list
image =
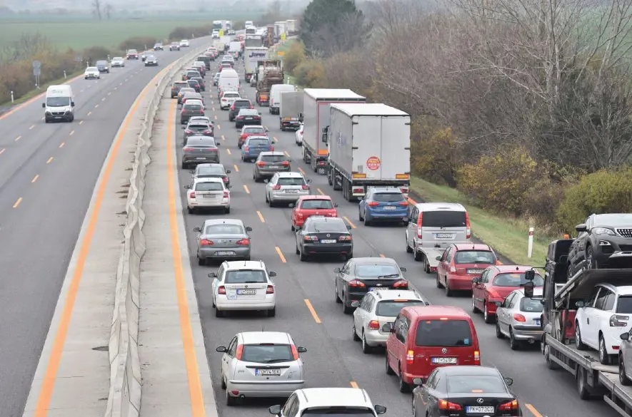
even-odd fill
[{"label": "red car between another red car and the silver hatchback", "polygon": [[[472,311],[483,312],[488,324],[496,321],[496,307],[503,304],[514,289],[526,284],[524,273],[531,269],[526,265],[494,265],[483,271],[481,277],[472,279]],[[543,287],[544,279],[536,271],[533,279],[536,287]]]}]

